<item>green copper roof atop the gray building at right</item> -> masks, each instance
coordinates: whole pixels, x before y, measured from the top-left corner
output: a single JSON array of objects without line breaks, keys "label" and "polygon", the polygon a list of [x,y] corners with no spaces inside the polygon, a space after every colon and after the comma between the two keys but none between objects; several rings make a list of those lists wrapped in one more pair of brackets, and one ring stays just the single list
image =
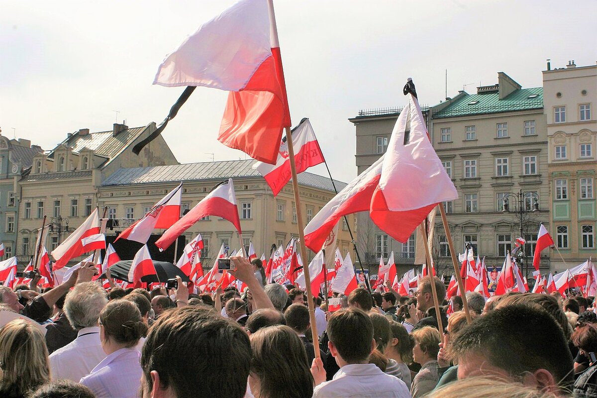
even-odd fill
[{"label": "green copper roof atop the gray building at right", "polygon": [[510,93],[503,100],[499,99],[497,92],[466,94],[441,111],[434,112],[433,119],[541,108],[543,108],[543,87],[523,88]]}]

